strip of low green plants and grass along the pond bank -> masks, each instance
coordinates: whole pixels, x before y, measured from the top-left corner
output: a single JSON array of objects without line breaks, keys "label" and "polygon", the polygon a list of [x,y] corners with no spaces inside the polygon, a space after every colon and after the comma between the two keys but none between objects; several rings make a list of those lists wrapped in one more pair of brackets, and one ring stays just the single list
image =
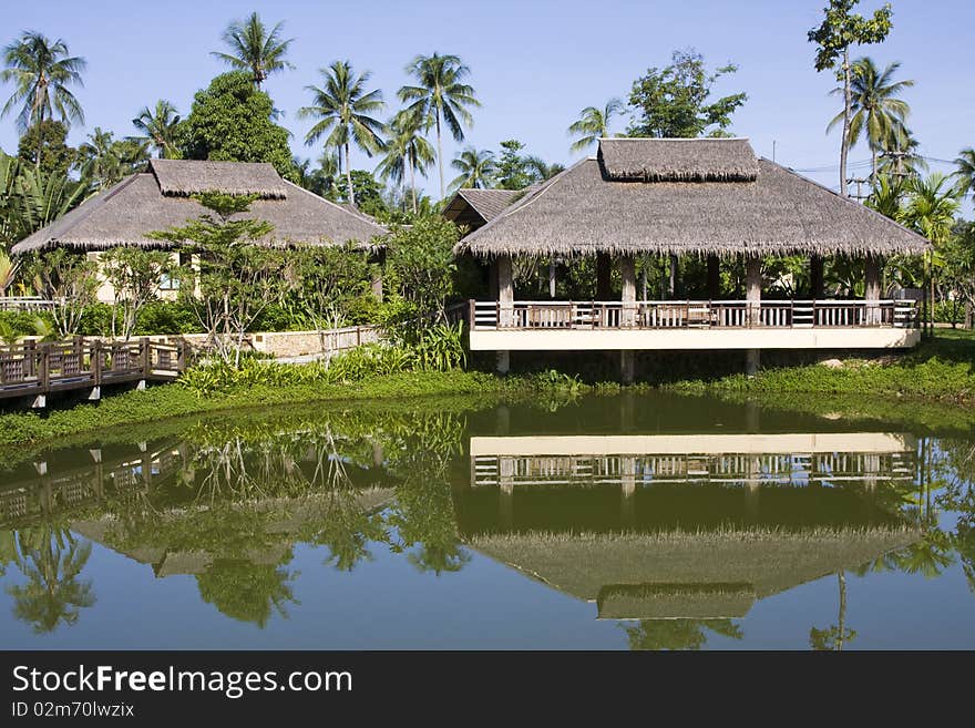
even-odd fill
[{"label": "strip of low green plants and grass along the pond bank", "polygon": [[[349,357],[352,362],[361,357]],[[47,413],[0,414],[0,447],[40,443],[105,428],[162,418],[324,401],[394,401],[417,397],[490,396],[521,398],[546,393],[571,398],[586,391],[619,391],[615,384],[591,387],[555,371],[496,377],[480,371],[408,370],[369,375],[361,371],[336,380],[315,365],[245,366],[232,378],[218,371],[192,370],[182,384],[154,387],[106,397]],[[646,389],[647,383],[635,389]],[[732,375],[715,380],[666,384],[688,394],[749,399],[824,417],[916,421],[937,429],[975,427],[975,332],[941,330],[910,353],[883,360],[845,359],[767,369],[755,378]],[[817,394],[814,398],[808,394]],[[920,407],[923,404],[923,407]]]}]

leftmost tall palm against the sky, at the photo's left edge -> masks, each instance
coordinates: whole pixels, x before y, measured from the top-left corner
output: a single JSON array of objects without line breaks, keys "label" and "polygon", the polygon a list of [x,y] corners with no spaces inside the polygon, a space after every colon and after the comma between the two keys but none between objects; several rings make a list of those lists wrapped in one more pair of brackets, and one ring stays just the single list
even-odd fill
[{"label": "leftmost tall palm against the sky, at the photo's left edge", "polygon": [[[3,105],[0,116],[17,106],[17,125],[25,131],[57,112],[61,121],[84,123],[84,112],[74,94],[68,90],[72,83],[84,85],[81,73],[86,66],[83,58],[71,55],[60,38],[51,42],[41,33],[29,31],[20,40],[3,49],[7,68],[0,71],[0,81],[13,83],[13,94]],[[38,135],[37,166],[41,164],[43,135]]]}]

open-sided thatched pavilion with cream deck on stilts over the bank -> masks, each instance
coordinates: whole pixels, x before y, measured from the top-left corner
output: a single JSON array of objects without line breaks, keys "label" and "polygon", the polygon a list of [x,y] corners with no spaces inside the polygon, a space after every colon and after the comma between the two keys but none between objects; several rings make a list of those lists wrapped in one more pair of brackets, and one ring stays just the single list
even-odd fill
[{"label": "open-sided thatched pavilion with cream deck on stilts over the bank", "polygon": [[[603,139],[595,157],[527,189],[454,252],[490,265],[494,300],[471,305],[470,341],[497,352],[499,371],[512,350],[617,349],[630,381],[636,350],[745,349],[755,373],[761,349],[913,346],[917,310],[883,296],[884,258],[930,248],[880,213],[757,157],[747,139]],[[808,298],[763,303],[763,258],[791,255],[809,257]],[[593,299],[556,301],[558,267],[583,256],[595,258]],[[663,301],[647,295],[651,256],[670,258]],[[707,295],[671,303],[678,258],[688,256],[707,262]],[[861,301],[825,295],[829,256],[861,259]],[[552,300],[515,300],[515,257],[547,258]],[[723,299],[722,258],[743,262],[743,299]]]}]

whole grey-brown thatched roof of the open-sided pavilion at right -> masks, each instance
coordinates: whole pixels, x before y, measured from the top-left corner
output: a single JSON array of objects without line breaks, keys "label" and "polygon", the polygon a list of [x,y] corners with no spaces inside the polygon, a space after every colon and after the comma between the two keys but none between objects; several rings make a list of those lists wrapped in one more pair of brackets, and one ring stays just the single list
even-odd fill
[{"label": "whole grey-brown thatched roof of the open-sided pavilion at right", "polygon": [[[769,160],[752,181],[618,182],[612,173],[660,176],[706,171],[707,150],[729,150],[709,168],[741,170],[742,140],[603,140],[531,191],[456,252],[478,256],[676,254],[735,256],[920,254],[928,243],[879,213]],[[625,152],[625,154],[624,154]],[[677,153],[687,161],[679,163]],[[653,163],[659,154],[661,160]],[[609,170],[606,164],[610,165]]]}]

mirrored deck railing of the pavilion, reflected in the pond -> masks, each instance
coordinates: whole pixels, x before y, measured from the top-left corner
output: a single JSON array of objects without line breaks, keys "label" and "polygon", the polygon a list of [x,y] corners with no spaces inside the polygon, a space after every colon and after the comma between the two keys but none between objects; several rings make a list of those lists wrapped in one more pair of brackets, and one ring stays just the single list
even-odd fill
[{"label": "mirrored deck railing of the pavilion, reflected in the pond", "polygon": [[914,453],[475,455],[473,485],[911,481]]}]

